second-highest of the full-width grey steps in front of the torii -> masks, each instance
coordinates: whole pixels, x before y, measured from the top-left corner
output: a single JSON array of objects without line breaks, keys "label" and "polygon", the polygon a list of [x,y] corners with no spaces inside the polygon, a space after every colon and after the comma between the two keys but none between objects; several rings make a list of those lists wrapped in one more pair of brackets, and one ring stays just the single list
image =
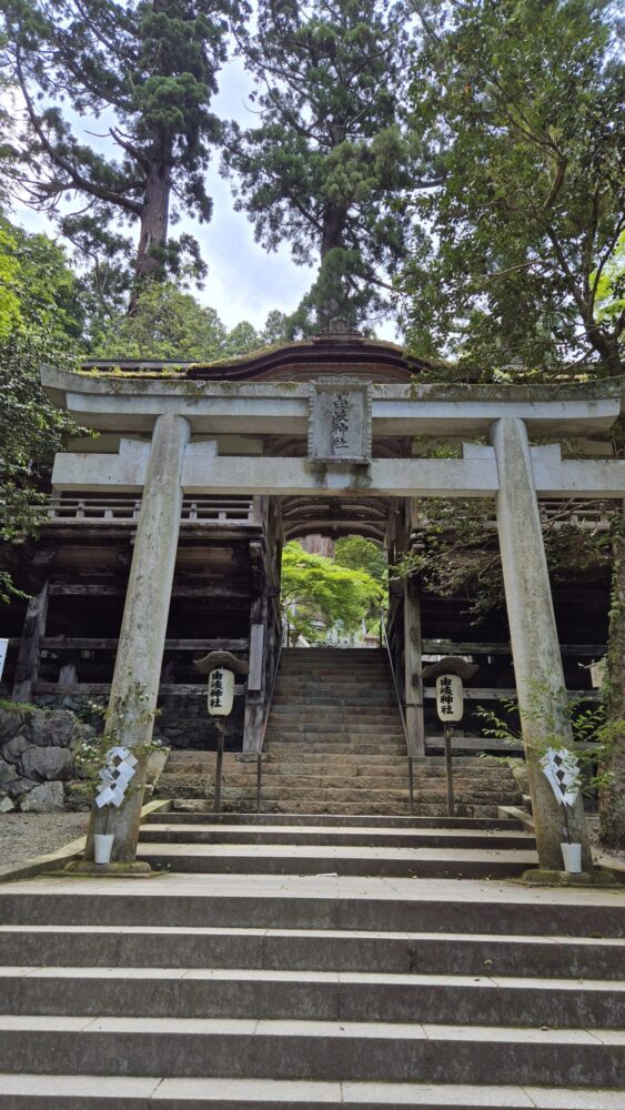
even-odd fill
[{"label": "second-highest of the full-width grey steps in front of the torii", "polygon": [[75,968],[246,968],[452,975],[486,977],[488,981],[506,976],[625,982],[625,939],[557,935],[139,926],[125,921],[19,924],[0,926],[0,953],[8,967],[69,968],[72,975]]}]

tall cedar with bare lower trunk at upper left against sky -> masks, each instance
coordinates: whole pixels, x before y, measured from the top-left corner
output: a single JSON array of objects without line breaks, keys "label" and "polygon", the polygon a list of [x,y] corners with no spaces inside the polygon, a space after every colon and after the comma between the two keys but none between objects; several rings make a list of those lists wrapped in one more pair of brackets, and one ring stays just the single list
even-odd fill
[{"label": "tall cedar with bare lower trunk at upper left against sky", "polygon": [[[61,212],[91,258],[132,258],[121,218],[139,226],[139,280],[175,273],[185,250],[199,262],[190,236],[168,238],[171,202],[211,216],[204,174],[221,128],[210,101],[229,22],[246,11],[231,0],[7,0],[31,200]],[[68,195],[80,199],[70,215],[59,208]]]}]

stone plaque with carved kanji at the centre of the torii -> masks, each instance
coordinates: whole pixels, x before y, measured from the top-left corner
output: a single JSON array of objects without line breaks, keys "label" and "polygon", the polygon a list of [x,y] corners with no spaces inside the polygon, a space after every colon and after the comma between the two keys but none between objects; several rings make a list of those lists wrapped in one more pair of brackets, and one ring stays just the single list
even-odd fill
[{"label": "stone plaque with carved kanji at the centre of the torii", "polygon": [[371,386],[333,379],[313,382],[309,458],[320,463],[371,462]]}]

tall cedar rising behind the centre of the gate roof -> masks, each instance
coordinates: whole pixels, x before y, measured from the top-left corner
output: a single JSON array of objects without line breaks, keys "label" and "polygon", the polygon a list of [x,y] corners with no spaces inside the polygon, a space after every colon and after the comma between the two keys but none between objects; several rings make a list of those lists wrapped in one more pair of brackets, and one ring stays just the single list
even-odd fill
[{"label": "tall cedar rising behind the centre of the gate roof", "polygon": [[381,307],[405,258],[399,199],[416,176],[401,103],[406,36],[379,0],[260,0],[240,39],[260,121],[232,125],[224,168],[239,209],[269,250],[321,266],[295,332],[336,315],[355,325]]}]

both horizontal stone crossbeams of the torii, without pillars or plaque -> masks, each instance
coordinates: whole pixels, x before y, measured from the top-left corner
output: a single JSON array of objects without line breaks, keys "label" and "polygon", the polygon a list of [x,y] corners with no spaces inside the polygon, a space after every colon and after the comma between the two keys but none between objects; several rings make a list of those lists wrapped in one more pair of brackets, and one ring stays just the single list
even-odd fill
[{"label": "both horizontal stone crossbeams of the torii, without pillars or plaque", "polygon": [[[296,383],[249,384],[177,379],[94,379],[47,369],[44,387],[77,421],[100,431],[128,431],[117,453],[60,452],[52,482],[59,491],[139,492],[145,483],[149,443],[139,436],[160,415],[184,417],[195,442],[183,451],[181,485],[187,494],[265,493],[284,496],[346,492],[381,496],[490,497],[498,490],[492,446],[465,444],[462,458],[381,458],[365,465],[314,462],[314,457],[220,455],[220,436],[289,434],[304,438],[311,420],[311,386]],[[601,386],[601,387],[599,387]],[[324,386],[322,386],[324,389]],[[554,440],[605,432],[622,406],[619,383],[532,390],[504,386],[389,385],[372,383],[366,408],[373,438],[384,436],[466,435],[475,440],[500,421],[523,422],[530,433]],[[370,400],[369,400],[370,396]],[[369,420],[369,415],[366,417]],[[134,433],[134,438],[132,437]],[[209,440],[209,436],[214,440]],[[409,448],[410,450],[410,448]],[[625,462],[563,461],[560,446],[531,451],[536,492],[543,497],[625,496]]]}]

